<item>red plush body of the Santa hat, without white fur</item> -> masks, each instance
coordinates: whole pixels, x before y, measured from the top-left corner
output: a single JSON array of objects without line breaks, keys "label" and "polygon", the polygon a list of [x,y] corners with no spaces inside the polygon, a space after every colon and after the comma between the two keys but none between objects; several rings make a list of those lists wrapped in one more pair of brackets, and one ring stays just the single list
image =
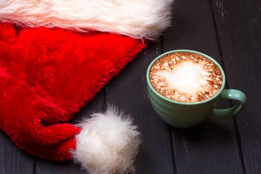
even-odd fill
[{"label": "red plush body of the Santa hat, without white fur", "polygon": [[0,129],[30,154],[70,159],[81,128],[69,120],[145,46],[111,33],[0,23]]}]

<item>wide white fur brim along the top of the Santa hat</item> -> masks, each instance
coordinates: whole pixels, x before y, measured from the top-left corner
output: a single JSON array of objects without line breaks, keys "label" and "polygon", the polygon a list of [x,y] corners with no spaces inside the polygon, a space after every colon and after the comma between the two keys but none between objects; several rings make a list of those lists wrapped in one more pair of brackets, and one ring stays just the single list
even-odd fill
[{"label": "wide white fur brim along the top of the Santa hat", "polygon": [[0,0],[0,20],[28,27],[97,30],[156,39],[173,0]]}]

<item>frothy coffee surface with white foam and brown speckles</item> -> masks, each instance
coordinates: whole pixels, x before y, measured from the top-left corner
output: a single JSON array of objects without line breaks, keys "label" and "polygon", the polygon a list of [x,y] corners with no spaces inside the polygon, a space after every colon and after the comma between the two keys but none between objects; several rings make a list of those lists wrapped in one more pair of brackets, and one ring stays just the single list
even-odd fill
[{"label": "frothy coffee surface with white foam and brown speckles", "polygon": [[180,102],[206,100],[219,91],[222,81],[222,73],[213,62],[188,52],[165,55],[150,70],[155,90]]}]

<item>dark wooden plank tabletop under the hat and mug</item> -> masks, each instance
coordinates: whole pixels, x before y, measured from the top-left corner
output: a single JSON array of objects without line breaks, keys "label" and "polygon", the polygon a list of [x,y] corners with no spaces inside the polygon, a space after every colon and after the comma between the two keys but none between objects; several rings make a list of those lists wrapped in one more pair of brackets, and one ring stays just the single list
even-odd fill
[{"label": "dark wooden plank tabletop under the hat and mug", "polygon": [[[197,50],[224,68],[227,88],[247,95],[235,117],[177,129],[153,110],[146,87],[150,62],[176,49]],[[151,43],[76,116],[114,103],[142,132],[137,174],[261,174],[261,0],[175,0],[173,26]],[[221,107],[234,105],[232,101]],[[79,166],[26,154],[0,132],[0,174],[85,174]]]}]

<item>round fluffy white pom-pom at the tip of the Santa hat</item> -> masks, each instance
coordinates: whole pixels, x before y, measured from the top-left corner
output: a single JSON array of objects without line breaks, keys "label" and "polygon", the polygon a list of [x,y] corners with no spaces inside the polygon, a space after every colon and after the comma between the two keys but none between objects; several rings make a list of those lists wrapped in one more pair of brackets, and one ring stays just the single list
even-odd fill
[{"label": "round fluffy white pom-pom at the tip of the Santa hat", "polygon": [[76,136],[74,160],[90,174],[133,173],[140,133],[129,116],[109,107],[105,113],[92,114],[81,124]]}]

